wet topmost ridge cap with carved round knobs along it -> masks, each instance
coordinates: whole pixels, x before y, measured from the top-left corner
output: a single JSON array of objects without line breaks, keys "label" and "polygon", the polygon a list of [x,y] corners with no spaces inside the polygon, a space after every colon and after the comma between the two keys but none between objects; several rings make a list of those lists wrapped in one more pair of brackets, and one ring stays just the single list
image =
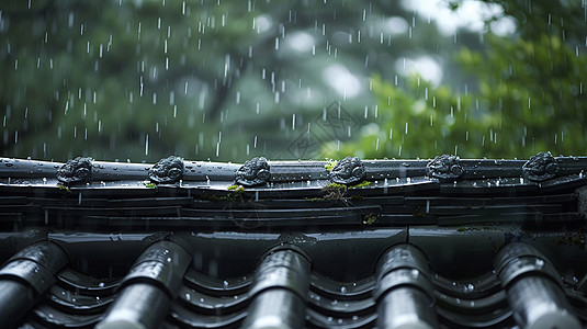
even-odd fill
[{"label": "wet topmost ridge cap with carved round knobs along it", "polygon": [[[460,159],[442,155],[430,160],[360,160],[347,157],[329,161],[268,161],[263,157],[244,164],[189,161],[170,156],[155,164],[94,161],[77,157],[66,163],[0,158],[1,183],[43,184],[71,188],[100,182],[140,181],[146,185],[222,186],[226,183],[244,188],[272,186],[272,183],[307,183],[327,180],[330,183],[357,186],[394,185],[405,179],[454,183],[463,180],[488,180],[499,185],[508,179],[538,184],[557,178],[583,178],[587,157],[553,157],[540,152],[528,160]],[[10,179],[10,180],[9,180]],[[504,180],[503,180],[504,179]],[[205,182],[205,184],[204,184]],[[303,184],[301,186],[304,186]],[[226,188],[226,186],[225,186]]]}]

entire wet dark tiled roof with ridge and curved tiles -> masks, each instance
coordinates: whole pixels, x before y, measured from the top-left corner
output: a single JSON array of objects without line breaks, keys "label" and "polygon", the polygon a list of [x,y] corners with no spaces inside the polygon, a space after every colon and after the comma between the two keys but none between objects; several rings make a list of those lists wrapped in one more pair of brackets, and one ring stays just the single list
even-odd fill
[{"label": "entire wet dark tiled roof with ridge and curved tiles", "polygon": [[0,161],[1,328],[587,327],[587,158]]}]

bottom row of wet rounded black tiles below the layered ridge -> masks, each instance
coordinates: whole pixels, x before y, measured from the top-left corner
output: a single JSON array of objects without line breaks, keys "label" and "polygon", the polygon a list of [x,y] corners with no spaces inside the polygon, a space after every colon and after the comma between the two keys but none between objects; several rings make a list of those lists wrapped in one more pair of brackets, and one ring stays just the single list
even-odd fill
[{"label": "bottom row of wet rounded black tiles below the layered ridge", "polygon": [[[331,262],[349,260],[336,247],[327,245],[361,243],[339,234],[323,237],[314,246],[302,241],[280,242],[260,256],[255,254],[258,259],[250,272],[235,277],[213,277],[197,264],[201,258],[197,254],[210,248],[238,254],[230,249],[247,242],[233,237],[230,246],[226,240],[229,235],[225,232],[224,245],[215,247],[211,246],[214,239],[203,236],[192,241],[181,235],[159,237],[155,242],[135,240],[145,246],[139,256],[125,274],[111,279],[82,273],[77,264],[80,260],[72,259],[76,252],[71,254],[69,249],[92,242],[95,245],[90,249],[100,249],[101,243],[115,241],[100,243],[94,238],[82,242],[81,237],[64,235],[34,242],[0,269],[0,322],[4,328],[542,328],[545,325],[582,328],[587,325],[585,279],[577,282],[561,274],[574,269],[556,268],[555,263],[560,265],[561,261],[542,253],[539,248],[544,249],[544,245],[535,241],[501,243],[490,252],[490,269],[482,272],[477,269],[474,271],[477,275],[463,279],[454,270],[466,264],[458,259],[438,265],[440,271],[445,271],[443,266],[454,268],[450,276],[434,271],[438,261],[432,261],[432,254],[427,252],[431,247],[420,243],[426,238],[422,240],[418,232],[413,240],[402,241],[405,231],[391,235],[375,230],[364,237],[373,236],[377,246],[366,249],[376,252],[370,256],[359,252],[373,262],[369,266],[371,273],[359,280],[339,281],[320,273],[327,264],[318,261],[325,257]],[[263,246],[249,247],[249,251],[271,245],[268,243],[271,238],[264,238]],[[450,238],[456,241],[442,248],[461,245],[456,236]],[[441,242],[439,237],[436,242]],[[259,245],[259,241],[251,243]],[[197,250],[199,247],[202,249]],[[585,257],[584,248],[578,249]],[[316,252],[327,254],[314,258]],[[237,257],[217,260],[238,261]],[[469,266],[475,266],[474,261],[469,261]],[[99,265],[121,266],[115,262]]]}]

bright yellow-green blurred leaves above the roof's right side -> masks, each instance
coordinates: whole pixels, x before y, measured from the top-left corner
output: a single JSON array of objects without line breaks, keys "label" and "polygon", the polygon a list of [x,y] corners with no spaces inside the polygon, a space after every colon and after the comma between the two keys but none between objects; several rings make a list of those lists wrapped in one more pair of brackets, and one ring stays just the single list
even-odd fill
[{"label": "bright yellow-green blurred leaves above the roof's right side", "polygon": [[518,29],[515,35],[497,36],[488,20],[486,49],[460,49],[455,60],[475,84],[455,90],[414,76],[396,86],[375,75],[379,124],[364,126],[359,140],[327,155],[529,158],[550,150],[585,156],[585,2],[497,3],[504,7],[504,15],[516,19]]}]

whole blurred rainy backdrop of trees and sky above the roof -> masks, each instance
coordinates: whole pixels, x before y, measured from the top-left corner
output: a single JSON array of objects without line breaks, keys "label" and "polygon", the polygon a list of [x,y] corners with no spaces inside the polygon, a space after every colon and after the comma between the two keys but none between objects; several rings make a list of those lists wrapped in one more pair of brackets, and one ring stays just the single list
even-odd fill
[{"label": "whole blurred rainy backdrop of trees and sky above the roof", "polygon": [[1,156],[586,155],[587,4],[4,0]]}]

